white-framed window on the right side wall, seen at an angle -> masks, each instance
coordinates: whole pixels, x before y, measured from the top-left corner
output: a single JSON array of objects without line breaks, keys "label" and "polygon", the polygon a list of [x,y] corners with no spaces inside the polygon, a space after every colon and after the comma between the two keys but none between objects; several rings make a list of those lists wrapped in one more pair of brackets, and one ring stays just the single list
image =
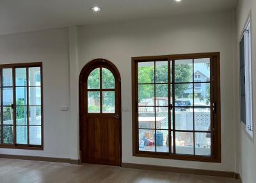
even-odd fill
[{"label": "white-framed window on the right side wall, seen at an angle", "polygon": [[253,136],[252,118],[252,51],[251,51],[251,21],[248,20],[240,44],[240,109],[241,122],[246,125],[246,131]]}]

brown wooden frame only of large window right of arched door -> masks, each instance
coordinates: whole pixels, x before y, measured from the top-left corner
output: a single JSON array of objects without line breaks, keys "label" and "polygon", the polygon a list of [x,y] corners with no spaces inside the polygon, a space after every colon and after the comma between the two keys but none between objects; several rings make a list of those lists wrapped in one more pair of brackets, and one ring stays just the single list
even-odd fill
[{"label": "brown wooden frame only of large window right of arched door", "polygon": [[[147,152],[139,151],[138,145],[138,63],[143,61],[168,61],[170,65],[174,60],[210,58],[211,62],[211,156],[204,155],[183,155],[172,152]],[[221,103],[220,103],[220,52],[205,52],[195,54],[173,54],[164,56],[141,56],[132,57],[132,154],[136,157],[152,157],[160,159],[178,159],[185,161],[202,161],[221,163]],[[174,67],[172,67],[174,70]],[[168,73],[170,82],[170,73]],[[169,83],[168,82],[168,83]],[[193,82],[195,83],[195,82]],[[169,84],[168,84],[169,85]],[[168,86],[169,88],[169,86]],[[173,90],[173,89],[172,89]],[[170,100],[170,93],[168,93]],[[170,113],[169,113],[170,118]],[[171,129],[169,127],[169,136]],[[176,130],[175,130],[176,131]],[[196,132],[196,131],[193,131]],[[169,149],[172,147],[172,140],[169,138]],[[195,141],[195,138],[194,138]],[[195,145],[195,143],[194,143]]]}]

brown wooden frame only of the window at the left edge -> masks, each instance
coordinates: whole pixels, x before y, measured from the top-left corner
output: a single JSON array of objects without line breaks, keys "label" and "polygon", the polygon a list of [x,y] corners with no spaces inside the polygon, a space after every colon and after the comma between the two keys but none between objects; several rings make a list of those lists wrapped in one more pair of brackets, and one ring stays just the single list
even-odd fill
[{"label": "brown wooden frame only of the window at the left edge", "polygon": [[[27,89],[27,95],[29,95],[29,84],[28,84],[28,78],[29,78],[29,68],[31,67],[40,67],[40,79],[41,79],[41,84],[40,84],[40,88],[41,88],[41,145],[30,145],[29,144],[29,122],[27,123],[27,127],[28,127],[28,144],[17,144],[16,143],[16,99],[15,99],[15,92],[16,92],[16,81],[15,81],[15,68],[26,68],[26,89]],[[0,148],[14,148],[14,149],[28,149],[28,150],[44,150],[44,103],[43,103],[43,67],[42,67],[42,62],[34,62],[34,63],[13,63],[13,64],[2,64],[0,65],[0,80],[2,78],[2,69],[3,68],[12,68],[12,88],[13,88],[13,143],[12,144],[4,144],[4,143],[0,143]],[[35,87],[35,86],[33,86]],[[3,99],[3,81],[1,81],[1,99]],[[27,115],[29,115],[29,99],[27,99],[27,104],[24,105],[27,107]],[[2,105],[1,105],[2,106]],[[3,111],[1,111],[2,116],[3,116]],[[3,121],[3,120],[1,120]],[[1,122],[0,122],[1,123]],[[37,126],[37,125],[36,125]],[[1,134],[0,134],[1,135]],[[3,138],[3,137],[2,137]]]}]

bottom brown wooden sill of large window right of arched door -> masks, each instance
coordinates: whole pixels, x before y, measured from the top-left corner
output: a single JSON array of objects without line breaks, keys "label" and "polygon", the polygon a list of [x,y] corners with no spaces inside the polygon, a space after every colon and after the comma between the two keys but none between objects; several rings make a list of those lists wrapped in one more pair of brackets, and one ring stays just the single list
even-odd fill
[{"label": "bottom brown wooden sill of large window right of arched door", "polygon": [[157,153],[156,152],[134,152],[132,154],[136,157],[151,157],[159,159],[175,159],[182,161],[199,161],[199,162],[208,162],[208,163],[221,163],[221,159],[214,159],[213,157],[208,156],[195,156],[195,155],[180,155],[180,154],[166,154],[166,153]]}]

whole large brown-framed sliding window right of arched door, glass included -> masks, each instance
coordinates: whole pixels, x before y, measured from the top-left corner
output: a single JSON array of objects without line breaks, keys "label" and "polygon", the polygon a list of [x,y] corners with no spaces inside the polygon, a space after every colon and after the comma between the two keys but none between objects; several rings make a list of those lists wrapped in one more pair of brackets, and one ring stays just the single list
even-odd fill
[{"label": "whole large brown-framed sliding window right of arched door, glass included", "polygon": [[132,58],[133,154],[220,162],[220,53]]}]

